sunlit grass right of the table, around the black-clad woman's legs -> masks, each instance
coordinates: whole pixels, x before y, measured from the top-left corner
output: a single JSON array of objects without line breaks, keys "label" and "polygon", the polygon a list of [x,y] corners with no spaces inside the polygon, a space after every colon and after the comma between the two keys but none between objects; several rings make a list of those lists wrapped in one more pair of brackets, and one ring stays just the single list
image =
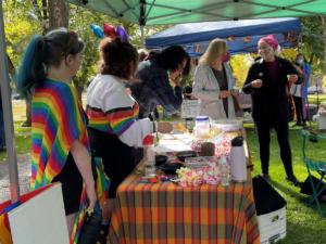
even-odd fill
[{"label": "sunlit grass right of the table, around the black-clad woman's legs", "polygon": [[[291,126],[292,124],[290,124]],[[314,125],[315,126],[315,125]],[[261,174],[261,166],[258,151],[258,138],[253,125],[246,125],[250,152],[254,164],[252,176]],[[290,128],[290,143],[293,156],[294,174],[300,181],[304,181],[308,172],[302,162],[302,141],[300,129]],[[325,155],[325,147],[315,147],[314,153]],[[285,169],[279,157],[279,149],[275,132],[271,139],[269,174],[273,187],[287,201],[287,237],[278,244],[322,244],[326,240],[326,219],[321,219],[317,209],[305,205],[308,197],[300,193],[300,189],[286,182]],[[324,204],[323,208],[326,210]],[[323,240],[323,241],[322,241]]]}]

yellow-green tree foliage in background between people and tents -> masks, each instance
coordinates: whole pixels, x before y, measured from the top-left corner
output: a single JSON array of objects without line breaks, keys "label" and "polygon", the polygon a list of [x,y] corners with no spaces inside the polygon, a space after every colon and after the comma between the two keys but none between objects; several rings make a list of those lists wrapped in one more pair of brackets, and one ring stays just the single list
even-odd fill
[{"label": "yellow-green tree foliage in background between people and tents", "polygon": [[[41,1],[38,0],[39,5]],[[8,0],[4,1],[5,16],[5,35],[8,40],[8,53],[17,67],[24,48],[34,34],[41,34],[42,24],[37,18],[36,10],[32,0]],[[300,51],[312,61],[312,72],[322,73],[323,66],[323,35],[321,17],[302,17],[302,42]],[[99,61],[98,46],[100,40],[92,34],[91,24],[102,26],[103,23],[113,26],[123,25],[128,33],[130,42],[141,47],[141,31],[138,25],[121,22],[117,18],[106,16],[101,13],[86,10],[80,7],[71,5],[70,28],[77,31],[85,41],[84,61],[77,76],[74,78],[75,84],[84,87],[97,74],[97,63]],[[145,37],[162,31],[168,25],[146,26],[143,28]],[[293,60],[296,52],[285,52],[287,59]],[[250,65],[250,59],[247,55],[237,55],[231,59],[231,66],[237,77],[237,86],[241,87],[246,79],[247,70]],[[184,84],[190,84],[191,77],[184,80]]]}]

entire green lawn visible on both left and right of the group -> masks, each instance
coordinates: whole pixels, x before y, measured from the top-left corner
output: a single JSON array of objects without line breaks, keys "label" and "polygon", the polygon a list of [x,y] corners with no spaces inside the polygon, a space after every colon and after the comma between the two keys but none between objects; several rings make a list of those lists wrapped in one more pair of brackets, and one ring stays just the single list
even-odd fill
[{"label": "entire green lawn visible on both left and right of the group", "polygon": [[[315,95],[310,95],[313,100]],[[326,95],[322,97],[326,101]],[[321,98],[321,99],[322,99]],[[22,101],[13,102],[15,140],[18,154],[29,153],[30,128],[22,128],[20,124],[25,119],[25,104]],[[291,124],[292,125],[292,124]],[[290,126],[291,126],[290,125]],[[252,124],[246,124],[248,142],[254,163],[253,176],[261,172],[258,138]],[[290,128],[290,143],[293,155],[293,168],[299,180],[303,181],[308,174],[301,160],[301,138],[299,128]],[[315,147],[313,154],[321,159],[326,159],[326,146]],[[7,156],[0,153],[0,159]],[[285,170],[279,158],[276,136],[272,133],[269,174],[273,185],[287,201],[287,237],[278,244],[325,244],[326,243],[326,218],[321,219],[316,208],[308,207],[304,202],[306,196],[299,193],[299,189],[285,181]],[[324,209],[326,209],[324,204]]]}]

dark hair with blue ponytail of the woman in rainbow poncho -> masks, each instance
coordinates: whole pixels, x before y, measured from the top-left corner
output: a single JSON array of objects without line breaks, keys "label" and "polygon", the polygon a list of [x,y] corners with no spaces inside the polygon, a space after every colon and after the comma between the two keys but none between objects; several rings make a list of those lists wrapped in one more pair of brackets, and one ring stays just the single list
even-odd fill
[{"label": "dark hair with blue ponytail of the woman in rainbow poncho", "polygon": [[17,73],[16,88],[26,98],[35,86],[47,77],[49,66],[59,66],[68,54],[76,55],[84,49],[84,42],[74,31],[65,28],[51,30],[45,36],[36,35],[28,43]]}]

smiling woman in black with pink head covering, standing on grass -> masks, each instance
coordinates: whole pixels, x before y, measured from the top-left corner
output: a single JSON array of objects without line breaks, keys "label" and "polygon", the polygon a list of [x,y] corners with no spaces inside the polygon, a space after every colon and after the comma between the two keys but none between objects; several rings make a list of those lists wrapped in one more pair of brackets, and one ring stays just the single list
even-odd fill
[{"label": "smiling woman in black with pink head covering, standing on grass", "polygon": [[267,181],[271,180],[268,175],[269,141],[271,129],[274,128],[287,175],[286,179],[299,185],[292,169],[286,94],[288,81],[298,80],[298,70],[289,61],[276,56],[278,42],[272,35],[261,38],[258,44],[262,59],[255,61],[250,67],[242,90],[252,95],[252,117],[259,136],[263,177]]}]

